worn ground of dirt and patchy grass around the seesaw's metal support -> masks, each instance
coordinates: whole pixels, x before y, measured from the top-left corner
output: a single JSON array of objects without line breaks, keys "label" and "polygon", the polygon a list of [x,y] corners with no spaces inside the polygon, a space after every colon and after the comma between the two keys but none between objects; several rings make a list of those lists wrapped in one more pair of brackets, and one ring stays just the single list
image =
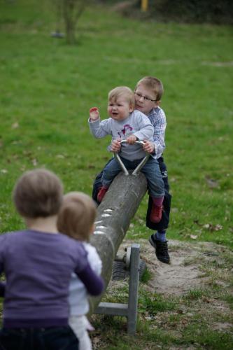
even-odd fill
[{"label": "worn ground of dirt and patchy grass around the seesaw's metal support", "polygon": [[[124,255],[125,248],[133,242],[125,240],[118,255]],[[169,240],[171,264],[167,265],[157,260],[155,249],[148,240],[139,239],[136,243],[140,244],[141,259],[146,261],[150,272],[150,279],[139,285],[139,318],[141,324],[148,324],[148,329],[154,332],[153,337],[155,334],[158,337],[155,347],[153,342],[143,342],[140,336],[144,330],[139,329],[141,349],[207,349],[205,344],[213,344],[208,349],[223,349],[222,340],[218,344],[215,342],[222,337],[233,336],[230,306],[233,252],[225,246],[208,242]],[[127,302],[127,297],[128,281],[111,281],[104,301]],[[99,322],[105,333],[97,330],[92,335],[93,342],[97,342],[94,349],[109,349],[109,332],[112,334],[114,331],[108,326],[109,318],[101,318]],[[122,325],[118,327],[122,329]],[[124,332],[126,328],[122,336]],[[169,335],[170,342],[166,340],[166,344],[163,343],[161,335],[164,339]],[[174,344],[174,339],[180,342],[178,346]],[[232,342],[229,340],[226,344]],[[228,349],[227,346],[225,349]],[[124,349],[134,349],[134,345]]]}]

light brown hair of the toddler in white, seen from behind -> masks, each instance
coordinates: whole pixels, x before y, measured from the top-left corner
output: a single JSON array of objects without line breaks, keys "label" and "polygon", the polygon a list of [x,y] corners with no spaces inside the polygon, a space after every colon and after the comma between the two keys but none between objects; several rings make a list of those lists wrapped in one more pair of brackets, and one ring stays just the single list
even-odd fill
[{"label": "light brown hair of the toddler in white, seen from behind", "polygon": [[58,231],[80,241],[89,241],[96,216],[96,204],[90,196],[81,192],[67,193],[57,218]]}]

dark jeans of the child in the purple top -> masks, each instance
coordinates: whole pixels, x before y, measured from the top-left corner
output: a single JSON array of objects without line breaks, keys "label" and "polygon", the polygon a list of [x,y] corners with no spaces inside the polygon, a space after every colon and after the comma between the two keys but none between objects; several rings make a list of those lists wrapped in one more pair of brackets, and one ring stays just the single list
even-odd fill
[{"label": "dark jeans of the child in the purple top", "polygon": [[78,339],[69,326],[2,328],[1,350],[77,350]]}]

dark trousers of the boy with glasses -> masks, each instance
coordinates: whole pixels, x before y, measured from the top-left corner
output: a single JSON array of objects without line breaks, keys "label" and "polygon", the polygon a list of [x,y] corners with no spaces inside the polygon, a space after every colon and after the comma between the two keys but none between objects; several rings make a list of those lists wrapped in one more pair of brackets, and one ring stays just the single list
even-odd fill
[{"label": "dark trousers of the boy with glasses", "polygon": [[[108,163],[111,160],[108,161]],[[171,209],[171,195],[169,194],[169,181],[167,177],[167,167],[164,163],[164,158],[160,157],[158,159],[159,166],[160,166],[160,172],[162,174],[162,180],[164,181],[164,202],[163,202],[163,211],[162,211],[162,219],[160,223],[152,223],[150,221],[150,211],[152,207],[152,198],[149,197],[148,200],[148,210],[146,214],[146,226],[150,228],[151,230],[158,230],[158,231],[163,231],[168,228],[169,225],[169,217],[170,217],[170,209]],[[108,165],[108,163],[106,165]],[[106,167],[105,165],[105,167]],[[101,183],[101,177],[103,175],[103,172],[100,172],[97,177],[94,179],[93,183],[93,189],[92,189],[92,198],[93,200],[99,205],[99,202],[97,201],[97,195],[99,192],[99,188],[101,188],[102,183]]]}]

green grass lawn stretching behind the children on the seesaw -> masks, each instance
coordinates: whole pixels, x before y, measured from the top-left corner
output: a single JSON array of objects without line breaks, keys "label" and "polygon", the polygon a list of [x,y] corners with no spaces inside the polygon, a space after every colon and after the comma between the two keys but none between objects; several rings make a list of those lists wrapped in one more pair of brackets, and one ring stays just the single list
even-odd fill
[{"label": "green grass lawn stretching behind the children on the seesaw", "polygon": [[[69,46],[50,36],[55,23],[48,1],[0,0],[0,232],[24,227],[10,196],[27,169],[52,169],[66,192],[91,194],[110,139],[90,135],[90,107],[106,118],[109,90],[152,75],[165,89],[168,238],[232,248],[232,27],[139,22],[93,6]],[[129,239],[150,235],[147,200]]]}]

